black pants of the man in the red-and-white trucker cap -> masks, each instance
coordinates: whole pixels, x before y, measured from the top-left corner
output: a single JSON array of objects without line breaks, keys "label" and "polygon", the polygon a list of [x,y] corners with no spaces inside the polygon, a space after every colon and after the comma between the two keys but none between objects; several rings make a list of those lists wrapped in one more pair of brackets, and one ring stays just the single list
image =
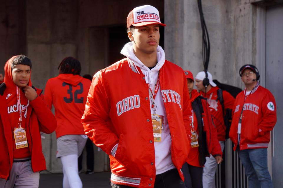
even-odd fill
[{"label": "black pants of the man in the red-and-white trucker cap", "polygon": [[[111,183],[112,188],[131,188],[130,186]],[[155,177],[154,188],[185,188],[177,169],[171,169]]]}]

